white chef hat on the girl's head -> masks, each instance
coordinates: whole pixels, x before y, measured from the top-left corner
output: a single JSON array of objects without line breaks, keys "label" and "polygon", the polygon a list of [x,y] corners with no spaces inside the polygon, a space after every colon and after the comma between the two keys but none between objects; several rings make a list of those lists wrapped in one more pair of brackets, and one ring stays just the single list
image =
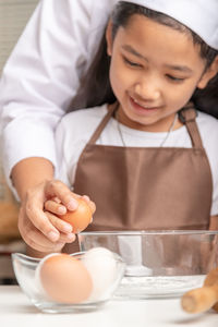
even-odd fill
[{"label": "white chef hat on the girl's head", "polygon": [[124,0],[161,12],[195,32],[218,50],[218,0]]}]

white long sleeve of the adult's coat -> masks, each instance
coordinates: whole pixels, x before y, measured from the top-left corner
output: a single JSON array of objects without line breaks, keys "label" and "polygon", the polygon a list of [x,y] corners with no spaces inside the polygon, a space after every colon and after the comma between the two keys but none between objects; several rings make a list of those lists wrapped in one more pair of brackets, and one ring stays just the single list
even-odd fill
[{"label": "white long sleeve of the adult's coat", "polygon": [[[118,0],[41,0],[0,81],[3,167],[27,157],[56,166],[53,130],[98,48]],[[11,185],[12,187],[12,185]]]}]

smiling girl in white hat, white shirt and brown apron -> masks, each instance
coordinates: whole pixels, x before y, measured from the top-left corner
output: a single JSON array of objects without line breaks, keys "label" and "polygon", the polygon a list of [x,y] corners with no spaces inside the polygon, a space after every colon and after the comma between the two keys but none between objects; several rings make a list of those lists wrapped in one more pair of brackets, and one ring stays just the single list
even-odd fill
[{"label": "smiling girl in white hat, white shirt and brown apron", "polygon": [[[114,8],[73,101],[94,108],[63,118],[56,137],[58,178],[97,206],[89,229],[217,228],[218,122],[202,112],[216,113],[217,104],[201,101],[217,88],[217,12],[216,0]],[[62,206],[45,208],[59,228]]]}]

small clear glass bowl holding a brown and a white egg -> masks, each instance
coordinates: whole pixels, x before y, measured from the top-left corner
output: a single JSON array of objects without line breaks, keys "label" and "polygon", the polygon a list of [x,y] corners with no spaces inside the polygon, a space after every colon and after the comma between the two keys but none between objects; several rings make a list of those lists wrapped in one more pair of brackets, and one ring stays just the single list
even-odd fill
[{"label": "small clear glass bowl holding a brown and a white egg", "polygon": [[[83,259],[84,255],[85,252],[71,254],[71,256],[76,257],[76,259]],[[112,298],[124,275],[124,262],[118,254],[111,253],[111,255],[114,259],[116,268],[110,284],[104,290],[104,295],[95,301],[86,300],[77,304],[58,303],[45,294],[45,291],[41,289],[41,286],[37,282],[36,278],[36,269],[41,259],[29,257],[21,253],[13,253],[12,264],[21,289],[40,311],[46,313],[88,312],[97,310]]]}]

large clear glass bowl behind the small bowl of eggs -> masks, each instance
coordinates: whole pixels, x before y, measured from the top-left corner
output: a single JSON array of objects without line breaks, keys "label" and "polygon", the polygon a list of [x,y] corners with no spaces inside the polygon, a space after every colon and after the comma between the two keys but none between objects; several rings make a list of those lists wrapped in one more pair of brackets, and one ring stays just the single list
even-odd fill
[{"label": "large clear glass bowl behind the small bowl of eggs", "polygon": [[218,231],[100,231],[78,235],[81,251],[104,246],[126,264],[116,299],[177,298],[218,266]]}]

